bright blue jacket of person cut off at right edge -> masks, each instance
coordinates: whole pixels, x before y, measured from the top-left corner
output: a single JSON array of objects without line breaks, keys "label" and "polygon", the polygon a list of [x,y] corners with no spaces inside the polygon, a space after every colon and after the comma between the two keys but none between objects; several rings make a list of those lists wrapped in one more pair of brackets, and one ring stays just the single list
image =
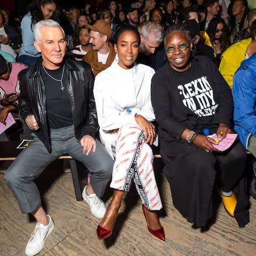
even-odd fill
[{"label": "bright blue jacket of person cut off at right edge", "polygon": [[233,77],[234,129],[247,150],[256,137],[256,53],[244,60]]}]

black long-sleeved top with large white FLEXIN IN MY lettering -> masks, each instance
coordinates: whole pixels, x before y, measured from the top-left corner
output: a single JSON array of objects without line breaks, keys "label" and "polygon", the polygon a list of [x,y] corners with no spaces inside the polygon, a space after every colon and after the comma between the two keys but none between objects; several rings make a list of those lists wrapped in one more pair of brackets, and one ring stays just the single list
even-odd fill
[{"label": "black long-sleeved top with large white FLEXIN IN MY lettering", "polygon": [[193,58],[189,70],[177,73],[166,63],[152,78],[151,102],[163,138],[179,141],[187,128],[213,133],[219,124],[231,124],[231,90],[209,58]]}]

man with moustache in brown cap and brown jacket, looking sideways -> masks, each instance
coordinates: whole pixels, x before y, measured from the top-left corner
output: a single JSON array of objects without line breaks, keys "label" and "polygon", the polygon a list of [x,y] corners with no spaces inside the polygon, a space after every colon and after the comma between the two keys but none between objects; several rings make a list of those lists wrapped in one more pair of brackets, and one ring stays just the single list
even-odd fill
[{"label": "man with moustache in brown cap and brown jacket, looking sideways", "polygon": [[113,45],[109,42],[112,34],[107,22],[98,20],[93,26],[86,25],[90,31],[90,44],[92,49],[83,57],[83,61],[90,64],[94,76],[108,68],[115,59]]}]

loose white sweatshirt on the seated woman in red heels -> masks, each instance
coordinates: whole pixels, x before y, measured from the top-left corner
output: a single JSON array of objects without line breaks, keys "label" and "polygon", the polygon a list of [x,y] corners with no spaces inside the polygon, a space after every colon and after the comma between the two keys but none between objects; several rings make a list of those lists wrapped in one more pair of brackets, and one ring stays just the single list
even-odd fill
[{"label": "loose white sweatshirt on the seated woman in red heels", "polygon": [[[100,139],[109,153],[116,134],[108,131],[127,123],[136,123],[134,116],[140,114],[148,121],[155,119],[151,105],[151,78],[155,71],[135,63],[131,69],[123,69],[117,59],[95,77],[94,98],[100,126]],[[126,114],[126,109],[132,110]],[[111,154],[110,154],[111,155]]]}]

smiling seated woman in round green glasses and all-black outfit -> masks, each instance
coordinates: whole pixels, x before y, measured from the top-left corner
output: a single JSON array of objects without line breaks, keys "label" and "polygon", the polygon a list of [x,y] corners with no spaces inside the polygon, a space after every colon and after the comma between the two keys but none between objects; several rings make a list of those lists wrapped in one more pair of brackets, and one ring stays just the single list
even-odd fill
[{"label": "smiling seated woman in round green glasses and all-black outfit", "polygon": [[[151,101],[158,123],[164,173],[174,206],[188,222],[205,226],[213,215],[214,185],[239,227],[249,222],[243,171],[245,151],[237,139],[225,152],[214,146],[232,133],[230,88],[207,57],[193,56],[184,25],[174,25],[164,38],[169,63],[151,82]],[[216,183],[215,183],[216,182]]]}]

